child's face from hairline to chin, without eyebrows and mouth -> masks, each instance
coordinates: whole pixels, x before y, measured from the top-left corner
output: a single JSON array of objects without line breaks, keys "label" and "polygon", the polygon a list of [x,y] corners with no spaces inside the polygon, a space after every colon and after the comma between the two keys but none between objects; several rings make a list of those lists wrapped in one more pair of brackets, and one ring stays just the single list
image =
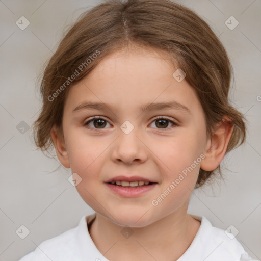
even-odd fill
[{"label": "child's face from hairline to chin, without eyebrows and mouth", "polygon": [[[145,226],[172,213],[187,213],[207,142],[196,94],[186,79],[175,80],[172,74],[177,68],[163,56],[149,49],[118,52],[104,59],[84,80],[68,87],[63,115],[65,150],[59,159],[82,178],[76,189],[84,201],[124,226]],[[86,101],[105,102],[110,109],[73,112]],[[170,101],[181,103],[189,112],[177,108],[140,110]],[[103,121],[85,125],[93,116]],[[157,116],[163,121],[156,120]],[[166,117],[178,125],[164,121]],[[125,121],[127,125],[122,125]],[[121,126],[134,129],[126,134]],[[187,169],[187,176],[182,174],[184,178],[177,184],[175,180],[186,167],[190,171]],[[141,176],[158,184],[139,196],[122,196],[105,183],[118,175]],[[163,199],[158,200],[162,194]]]}]

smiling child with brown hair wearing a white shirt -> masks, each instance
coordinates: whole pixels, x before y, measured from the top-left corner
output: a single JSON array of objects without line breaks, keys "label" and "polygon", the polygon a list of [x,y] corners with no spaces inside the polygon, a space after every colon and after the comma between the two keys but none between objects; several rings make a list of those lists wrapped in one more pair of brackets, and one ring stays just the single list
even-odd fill
[{"label": "smiling child with brown hair wearing a white shirt", "polygon": [[252,260],[187,213],[194,188],[245,140],[231,70],[211,28],[171,1],[81,15],[45,68],[34,137],[42,151],[54,145],[95,213],[20,260]]}]

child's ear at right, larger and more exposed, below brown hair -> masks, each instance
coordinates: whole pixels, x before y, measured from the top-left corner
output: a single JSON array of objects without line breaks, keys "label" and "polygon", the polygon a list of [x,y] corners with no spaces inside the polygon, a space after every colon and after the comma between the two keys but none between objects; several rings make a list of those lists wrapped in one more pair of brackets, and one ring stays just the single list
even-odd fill
[{"label": "child's ear at right, larger and more exposed, below brown hair", "polygon": [[228,142],[233,132],[233,124],[231,120],[224,116],[218,122],[211,138],[207,140],[204,155],[200,168],[206,171],[215,170],[223,160]]}]

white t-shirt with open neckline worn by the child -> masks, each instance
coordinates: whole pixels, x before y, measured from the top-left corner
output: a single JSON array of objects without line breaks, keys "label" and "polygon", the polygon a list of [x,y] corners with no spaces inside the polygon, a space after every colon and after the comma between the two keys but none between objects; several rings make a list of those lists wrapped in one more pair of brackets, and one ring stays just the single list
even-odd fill
[{"label": "white t-shirt with open neckline worn by the child", "polygon": [[[96,213],[83,216],[77,227],[43,241],[19,261],[109,261],[96,248],[89,234],[88,226],[95,216]],[[204,216],[191,216],[201,221],[201,225],[191,245],[177,261],[253,260],[232,234],[228,237]]]}]

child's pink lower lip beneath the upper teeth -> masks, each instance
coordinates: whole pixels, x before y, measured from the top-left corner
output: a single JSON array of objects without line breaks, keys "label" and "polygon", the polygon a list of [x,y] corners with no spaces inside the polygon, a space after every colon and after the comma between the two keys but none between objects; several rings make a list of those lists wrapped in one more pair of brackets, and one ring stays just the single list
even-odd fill
[{"label": "child's pink lower lip beneath the upper teeth", "polygon": [[113,190],[115,193],[124,196],[124,197],[136,197],[140,196],[141,194],[152,190],[157,185],[156,183],[153,183],[151,185],[145,185],[139,188],[128,188],[128,187],[120,187],[117,185],[112,185],[110,183],[106,183],[106,185]]}]

